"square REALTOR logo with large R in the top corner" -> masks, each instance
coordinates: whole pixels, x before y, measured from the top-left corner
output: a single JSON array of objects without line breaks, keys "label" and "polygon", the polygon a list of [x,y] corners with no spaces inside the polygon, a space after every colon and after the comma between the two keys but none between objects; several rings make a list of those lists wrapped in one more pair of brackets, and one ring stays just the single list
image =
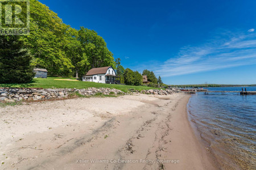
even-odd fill
[{"label": "square REALTOR logo with large R in the top corner", "polygon": [[0,36],[30,33],[30,2],[0,0]]}]

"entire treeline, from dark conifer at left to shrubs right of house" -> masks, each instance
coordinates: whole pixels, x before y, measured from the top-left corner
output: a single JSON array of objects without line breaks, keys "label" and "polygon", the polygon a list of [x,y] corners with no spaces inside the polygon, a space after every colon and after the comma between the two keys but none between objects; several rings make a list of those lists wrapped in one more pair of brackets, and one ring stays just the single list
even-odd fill
[{"label": "entire treeline, from dark conifer at left to shrubs right of house", "polygon": [[[2,16],[4,19],[4,16]],[[23,18],[26,20],[26,18]],[[35,67],[48,70],[48,76],[82,77],[90,69],[112,66],[121,83],[141,86],[142,75],[150,84],[163,84],[152,71],[124,69],[121,59],[114,60],[105,40],[96,31],[75,29],[39,1],[30,0],[30,35],[0,36],[0,82],[27,83],[34,76]]]}]

